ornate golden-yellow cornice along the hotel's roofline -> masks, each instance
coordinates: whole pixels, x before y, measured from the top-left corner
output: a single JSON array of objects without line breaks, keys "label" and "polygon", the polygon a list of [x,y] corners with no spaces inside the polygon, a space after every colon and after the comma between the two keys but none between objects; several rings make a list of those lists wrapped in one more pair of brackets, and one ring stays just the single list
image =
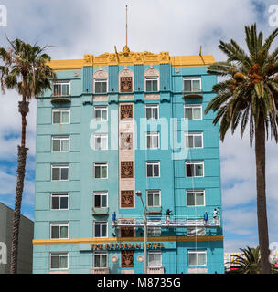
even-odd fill
[{"label": "ornate golden-yellow cornice along the hotel's roofline", "polygon": [[104,67],[104,66],[132,66],[132,65],[155,65],[155,64],[171,64],[173,67],[191,67],[191,66],[208,66],[215,62],[212,55],[200,56],[169,56],[169,52],[160,52],[154,54],[144,51],[104,53],[99,56],[92,54],[84,55],[83,59],[74,60],[54,60],[48,65],[55,71],[77,70],[84,66]]}]

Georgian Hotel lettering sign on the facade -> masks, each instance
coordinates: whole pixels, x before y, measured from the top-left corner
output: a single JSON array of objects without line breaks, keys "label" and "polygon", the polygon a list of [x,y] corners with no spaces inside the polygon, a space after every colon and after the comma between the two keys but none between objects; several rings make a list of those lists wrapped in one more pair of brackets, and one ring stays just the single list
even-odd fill
[{"label": "Georgian Hotel lettering sign on the facade", "polygon": [[[164,248],[163,243],[148,243],[148,249],[161,249]],[[121,250],[121,249],[141,249],[144,244],[138,243],[117,243],[117,244],[91,244],[91,250]]]}]

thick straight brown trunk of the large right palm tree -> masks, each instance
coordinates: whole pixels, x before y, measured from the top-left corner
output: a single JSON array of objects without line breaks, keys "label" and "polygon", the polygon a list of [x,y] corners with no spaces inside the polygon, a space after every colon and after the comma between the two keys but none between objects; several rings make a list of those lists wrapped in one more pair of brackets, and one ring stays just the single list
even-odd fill
[{"label": "thick straight brown trunk of the large right palm tree", "polygon": [[261,273],[271,274],[269,263],[269,237],[265,193],[265,126],[263,114],[260,113],[255,129],[256,178],[257,178],[257,216],[258,234],[261,253]]}]

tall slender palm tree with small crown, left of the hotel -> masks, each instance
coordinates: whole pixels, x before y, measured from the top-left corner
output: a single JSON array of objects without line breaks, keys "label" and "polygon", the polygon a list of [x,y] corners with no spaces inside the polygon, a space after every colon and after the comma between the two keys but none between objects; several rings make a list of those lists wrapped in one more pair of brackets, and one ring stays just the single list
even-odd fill
[{"label": "tall slender palm tree with small crown, left of the hotel", "polygon": [[0,80],[3,94],[5,89],[16,89],[22,97],[18,102],[18,111],[22,118],[21,145],[17,146],[17,181],[16,199],[13,220],[12,250],[11,250],[11,273],[17,270],[17,248],[20,221],[20,209],[24,179],[26,173],[26,128],[29,100],[41,95],[45,89],[51,89],[50,79],[55,78],[55,73],[46,64],[50,57],[44,53],[46,47],[31,46],[20,39],[10,41],[11,47],[0,47]]}]

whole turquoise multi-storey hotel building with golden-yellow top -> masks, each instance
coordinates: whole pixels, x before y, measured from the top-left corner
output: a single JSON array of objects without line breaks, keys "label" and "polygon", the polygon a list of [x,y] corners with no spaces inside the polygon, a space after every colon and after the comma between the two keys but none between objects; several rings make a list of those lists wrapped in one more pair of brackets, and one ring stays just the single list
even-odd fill
[{"label": "whole turquoise multi-storey hotel building with golden-yellow top", "polygon": [[213,62],[125,46],[49,63],[33,273],[224,273]]}]

